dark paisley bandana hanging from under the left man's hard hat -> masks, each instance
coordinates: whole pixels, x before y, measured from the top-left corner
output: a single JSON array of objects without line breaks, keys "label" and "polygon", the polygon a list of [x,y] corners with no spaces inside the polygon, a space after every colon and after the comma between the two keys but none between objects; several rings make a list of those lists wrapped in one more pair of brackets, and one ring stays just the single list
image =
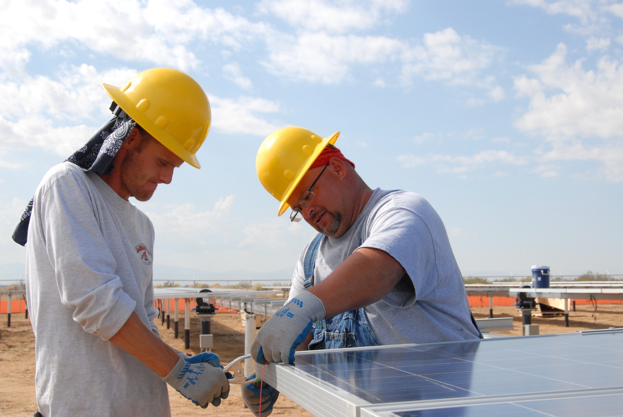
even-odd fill
[{"label": "dark paisley bandana hanging from under the left man's hard hat", "polygon": [[[125,139],[136,126],[136,122],[113,101],[110,110],[115,116],[95,133],[82,148],[75,151],[64,162],[72,162],[84,171],[95,174],[110,174],[114,169],[113,157],[121,148]],[[33,197],[34,199],[34,197]],[[31,222],[32,201],[26,206],[22,217],[13,231],[12,238],[16,243],[26,246],[28,224]]]}]

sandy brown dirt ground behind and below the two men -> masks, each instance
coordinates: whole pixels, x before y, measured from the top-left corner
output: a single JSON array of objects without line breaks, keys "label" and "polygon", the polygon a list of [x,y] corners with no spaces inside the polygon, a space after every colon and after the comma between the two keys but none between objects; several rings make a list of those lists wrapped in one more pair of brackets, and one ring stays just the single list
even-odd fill
[{"label": "sandy brown dirt ground behind and below the two men", "polygon": [[[472,307],[477,319],[488,317],[488,307]],[[500,332],[507,335],[521,335],[521,314],[515,307],[494,307],[494,317],[514,317],[515,330]],[[595,319],[596,318],[596,319]],[[191,349],[184,349],[183,339],[173,339],[173,328],[161,329],[163,339],[175,349],[188,353],[199,353],[199,319],[191,320]],[[180,322],[183,327],[183,322]],[[599,304],[594,314],[592,306],[578,306],[576,311],[569,312],[569,327],[564,327],[563,317],[540,318],[532,317],[532,324],[540,326],[540,334],[574,332],[576,330],[604,329],[607,327],[623,327],[622,304]],[[171,319],[173,327],[173,319]],[[183,329],[181,329],[183,335]],[[217,314],[212,319],[214,334],[214,352],[221,356],[221,362],[228,363],[244,354],[244,327],[238,314]],[[0,316],[0,416],[31,417],[37,410],[34,390],[34,336],[30,321],[23,314],[12,314],[11,327],[6,327],[6,316]],[[231,394],[221,406],[209,406],[202,410],[183,398],[169,387],[171,414],[173,416],[233,416],[249,417],[252,414],[243,408],[240,387],[232,385]],[[300,406],[285,396],[280,396],[272,416],[311,416]]]}]

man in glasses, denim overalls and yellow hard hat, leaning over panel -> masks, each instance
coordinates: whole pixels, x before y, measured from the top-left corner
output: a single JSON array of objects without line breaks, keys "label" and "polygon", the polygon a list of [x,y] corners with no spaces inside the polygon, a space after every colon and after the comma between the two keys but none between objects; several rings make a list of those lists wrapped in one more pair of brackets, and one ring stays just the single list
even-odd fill
[{"label": "man in glasses, denim overalls and yellow hard hat, leaning over panel", "polygon": [[[482,337],[444,224],[421,196],[373,190],[335,147],[303,128],[270,134],[257,175],[290,220],[318,232],[303,249],[288,302],[259,330],[258,363],[294,362],[294,350],[336,349]],[[242,390],[267,416],[277,393]]]}]

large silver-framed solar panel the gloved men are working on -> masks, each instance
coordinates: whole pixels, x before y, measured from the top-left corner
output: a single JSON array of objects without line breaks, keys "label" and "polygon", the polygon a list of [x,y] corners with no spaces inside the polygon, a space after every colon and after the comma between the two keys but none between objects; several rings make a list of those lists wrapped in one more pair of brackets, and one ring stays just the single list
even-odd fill
[{"label": "large silver-framed solar panel the gloved men are working on", "polygon": [[[366,408],[394,406],[403,411],[383,415],[501,415],[506,410],[525,415],[525,407],[546,410],[562,393],[585,403],[594,400],[589,393],[623,393],[619,330],[299,352],[295,362],[295,367],[270,365],[265,379],[295,401],[315,396],[320,405],[305,408],[323,416],[358,416]],[[617,395],[608,398],[621,400]],[[444,414],[450,412],[447,406],[453,406],[452,413]],[[439,410],[432,411],[435,407]]]}]

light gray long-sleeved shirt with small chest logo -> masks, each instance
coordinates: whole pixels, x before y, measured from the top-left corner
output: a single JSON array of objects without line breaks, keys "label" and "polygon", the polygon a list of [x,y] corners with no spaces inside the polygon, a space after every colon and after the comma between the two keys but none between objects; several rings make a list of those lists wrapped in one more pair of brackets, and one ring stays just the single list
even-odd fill
[{"label": "light gray long-sleeved shirt with small chest logo", "polygon": [[70,162],[45,174],[26,244],[39,411],[54,416],[170,416],[161,378],[108,342],[134,311],[152,330],[150,219]]}]

